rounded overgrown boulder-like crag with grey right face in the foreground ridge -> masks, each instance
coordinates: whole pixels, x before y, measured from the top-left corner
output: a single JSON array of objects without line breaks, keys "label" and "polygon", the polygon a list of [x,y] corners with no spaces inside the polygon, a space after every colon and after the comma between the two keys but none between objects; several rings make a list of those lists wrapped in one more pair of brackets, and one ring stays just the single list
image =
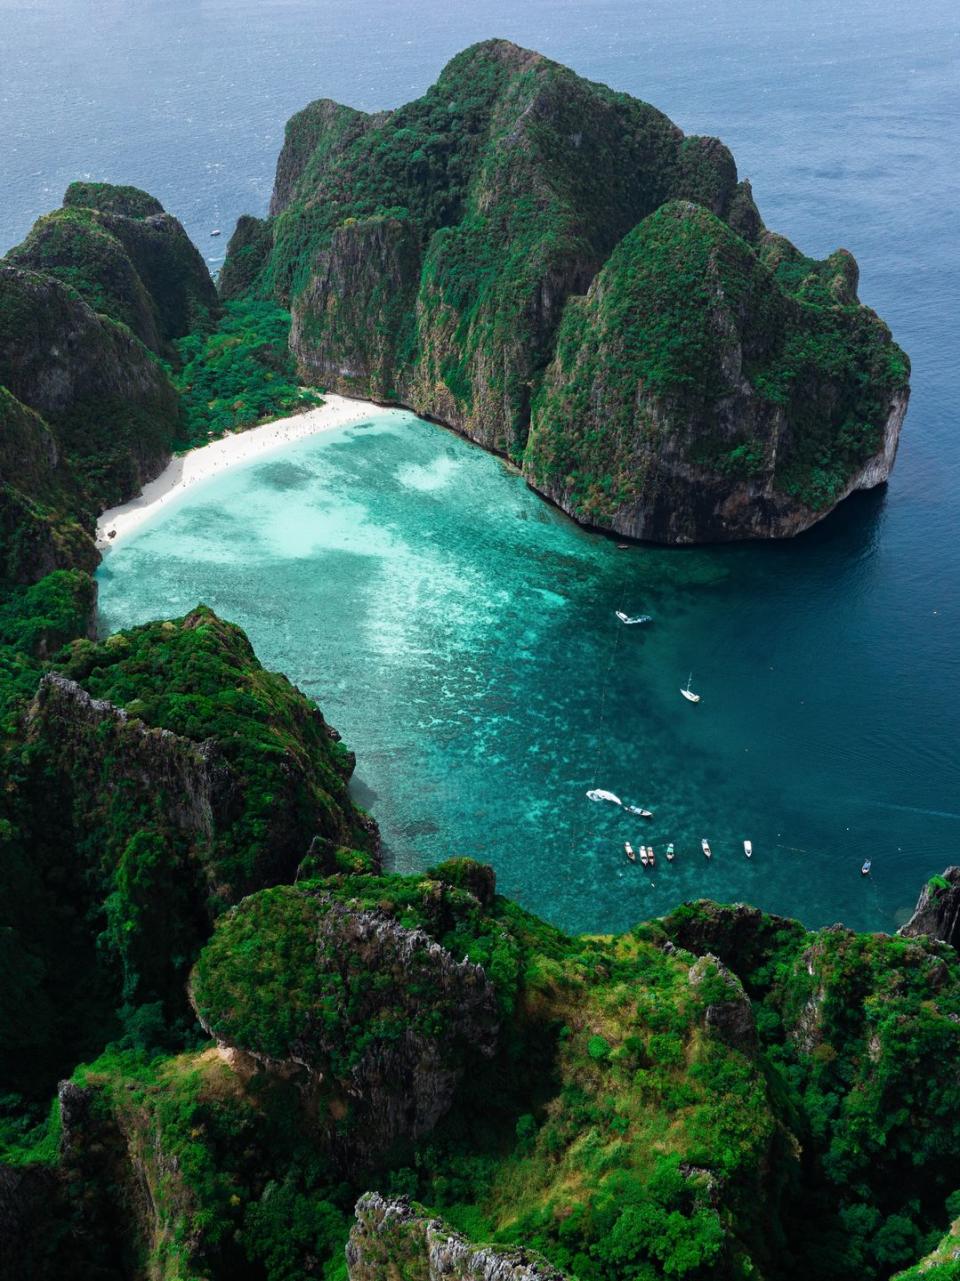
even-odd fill
[{"label": "rounded overgrown boulder-like crag with grey right face in the foreground ridge", "polygon": [[[472,1056],[496,1045],[493,989],[423,930],[329,895],[278,886],[218,925],[191,977],[218,1043],[299,1072],[319,1123],[351,1161],[428,1134]],[[331,1123],[343,1106],[349,1132]]]}]

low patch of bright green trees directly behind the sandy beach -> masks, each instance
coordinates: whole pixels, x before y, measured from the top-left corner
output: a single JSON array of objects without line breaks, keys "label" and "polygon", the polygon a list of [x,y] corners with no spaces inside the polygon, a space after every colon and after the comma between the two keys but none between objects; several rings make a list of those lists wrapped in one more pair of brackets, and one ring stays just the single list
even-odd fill
[{"label": "low patch of bright green trees directly behind the sandy beach", "polygon": [[173,375],[183,421],[178,443],[209,438],[323,404],[297,383],[290,313],[272,302],[227,302],[217,329],[177,343]]}]

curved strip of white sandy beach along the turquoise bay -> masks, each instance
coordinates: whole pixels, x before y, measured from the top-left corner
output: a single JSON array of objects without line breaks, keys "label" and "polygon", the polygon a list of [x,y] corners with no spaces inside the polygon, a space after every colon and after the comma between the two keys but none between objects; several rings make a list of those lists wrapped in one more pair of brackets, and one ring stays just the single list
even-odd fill
[{"label": "curved strip of white sandy beach along the turquoise bay", "polygon": [[238,462],[249,462],[291,441],[317,436],[319,432],[331,432],[337,427],[359,423],[370,414],[383,412],[401,411],[383,410],[372,401],[324,393],[323,405],[305,414],[278,418],[273,423],[264,423],[263,427],[251,427],[191,450],[190,453],[172,459],[155,480],[144,485],[138,498],[131,498],[129,502],[103,512],[96,523],[96,546],[101,551],[114,547],[124,534],[131,533],[197,480],[206,480],[208,477],[217,475]]}]

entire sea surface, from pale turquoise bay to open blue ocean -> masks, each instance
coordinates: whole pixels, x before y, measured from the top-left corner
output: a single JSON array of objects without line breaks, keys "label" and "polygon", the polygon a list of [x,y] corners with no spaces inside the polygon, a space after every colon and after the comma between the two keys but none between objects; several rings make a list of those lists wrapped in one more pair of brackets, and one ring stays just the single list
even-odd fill
[{"label": "entire sea surface, from pale turquoise bay to open blue ocean", "polygon": [[[914,364],[891,485],[790,543],[618,551],[497,459],[378,412],[194,488],[112,551],[104,628],[199,600],[245,626],[355,749],[399,869],[488,858],[575,929],[700,894],[893,927],[960,861],[959,13],[0,0],[0,250],[92,177],[158,195],[215,269],[236,216],[265,210],[294,110],[396,105],[499,35],[723,137],[768,225],[855,252]],[[625,839],[655,844],[652,875]]]}]

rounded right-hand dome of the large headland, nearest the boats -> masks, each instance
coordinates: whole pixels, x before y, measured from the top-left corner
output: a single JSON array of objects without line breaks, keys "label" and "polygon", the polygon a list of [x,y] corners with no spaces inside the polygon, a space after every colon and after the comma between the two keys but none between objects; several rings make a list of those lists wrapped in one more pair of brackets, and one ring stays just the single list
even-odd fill
[{"label": "rounded right-hand dome of the large headland, nearest the boats", "polygon": [[568,304],[523,470],[632,538],[788,537],[887,479],[905,379],[865,309],[790,297],[718,218],[668,204]]}]

